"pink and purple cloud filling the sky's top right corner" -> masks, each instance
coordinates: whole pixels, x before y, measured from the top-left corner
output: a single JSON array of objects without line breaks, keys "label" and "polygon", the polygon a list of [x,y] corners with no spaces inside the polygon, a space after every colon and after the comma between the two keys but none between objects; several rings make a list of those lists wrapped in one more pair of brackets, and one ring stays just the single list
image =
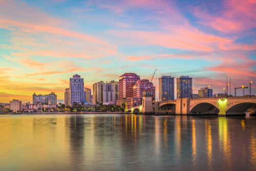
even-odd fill
[{"label": "pink and purple cloud filling the sky's top right corner", "polygon": [[212,15],[201,8],[195,8],[194,14],[201,19],[202,25],[212,27],[224,33],[241,32],[256,27],[255,1],[228,0],[218,15]]}]

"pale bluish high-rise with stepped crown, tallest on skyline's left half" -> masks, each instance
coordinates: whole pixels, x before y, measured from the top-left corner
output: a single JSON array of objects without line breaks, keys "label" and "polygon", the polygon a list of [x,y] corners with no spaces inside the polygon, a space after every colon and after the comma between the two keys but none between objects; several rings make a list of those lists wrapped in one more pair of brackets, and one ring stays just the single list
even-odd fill
[{"label": "pale bluish high-rise with stepped crown, tallest on skyline's left half", "polygon": [[74,106],[74,102],[81,103],[84,101],[84,83],[83,78],[80,75],[73,75],[73,78],[70,78],[69,83],[69,105]]}]

